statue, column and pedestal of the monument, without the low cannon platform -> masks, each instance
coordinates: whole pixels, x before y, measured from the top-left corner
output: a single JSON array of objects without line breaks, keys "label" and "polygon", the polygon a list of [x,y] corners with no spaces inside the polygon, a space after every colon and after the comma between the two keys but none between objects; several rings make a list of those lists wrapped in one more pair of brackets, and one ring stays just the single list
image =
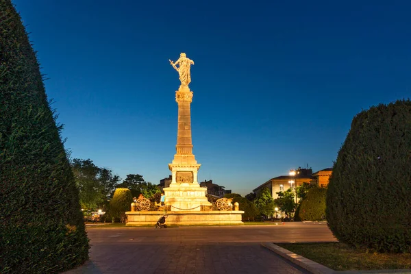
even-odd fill
[{"label": "statue, column and pedestal of the monument, without the low cannon platform", "polygon": [[169,164],[173,179],[169,188],[163,189],[166,206],[170,206],[172,211],[200,211],[201,206],[211,206],[211,203],[206,197],[207,188],[201,188],[197,181],[201,164],[197,163],[195,155],[192,154],[190,114],[192,91],[188,88],[188,84],[191,82],[190,66],[194,61],[188,59],[186,53],[181,53],[176,62],[169,61],[179,73],[181,85],[175,92],[175,101],[178,104],[177,145],[175,146],[177,153],[174,155],[173,162]]}]

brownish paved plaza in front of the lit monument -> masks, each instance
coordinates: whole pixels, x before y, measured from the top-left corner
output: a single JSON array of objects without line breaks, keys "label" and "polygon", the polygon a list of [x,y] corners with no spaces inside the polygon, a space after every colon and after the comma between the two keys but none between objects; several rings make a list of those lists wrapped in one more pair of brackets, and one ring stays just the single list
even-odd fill
[{"label": "brownish paved plaza in front of the lit monument", "polygon": [[90,227],[90,261],[78,273],[307,273],[261,242],[335,240],[325,224]]}]

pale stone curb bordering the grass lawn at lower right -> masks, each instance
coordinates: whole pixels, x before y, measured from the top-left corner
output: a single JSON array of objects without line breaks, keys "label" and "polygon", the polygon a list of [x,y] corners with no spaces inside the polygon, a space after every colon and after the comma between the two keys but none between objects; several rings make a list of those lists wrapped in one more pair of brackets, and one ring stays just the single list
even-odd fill
[{"label": "pale stone curb bordering the grass lawn at lower right", "polygon": [[263,242],[261,244],[262,247],[277,253],[279,256],[282,256],[286,260],[301,266],[303,269],[306,269],[314,274],[377,274],[377,273],[395,273],[395,274],[409,274],[411,273],[411,269],[381,269],[381,270],[363,270],[363,271],[334,271],[334,269],[329,269],[327,266],[323,264],[319,264],[318,262],[314,262],[303,256],[300,256],[296,253],[292,253],[288,249],[284,249],[279,247],[278,245],[274,245],[272,242]]}]

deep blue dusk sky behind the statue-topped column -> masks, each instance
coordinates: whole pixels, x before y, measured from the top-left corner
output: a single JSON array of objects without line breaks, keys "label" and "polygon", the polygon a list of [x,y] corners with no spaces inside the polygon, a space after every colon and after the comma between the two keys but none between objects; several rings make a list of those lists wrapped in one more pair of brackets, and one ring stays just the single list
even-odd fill
[{"label": "deep blue dusk sky behind the statue-topped column", "polygon": [[73,158],[158,184],[195,61],[199,181],[244,195],[332,166],[362,109],[411,95],[411,1],[14,0]]}]

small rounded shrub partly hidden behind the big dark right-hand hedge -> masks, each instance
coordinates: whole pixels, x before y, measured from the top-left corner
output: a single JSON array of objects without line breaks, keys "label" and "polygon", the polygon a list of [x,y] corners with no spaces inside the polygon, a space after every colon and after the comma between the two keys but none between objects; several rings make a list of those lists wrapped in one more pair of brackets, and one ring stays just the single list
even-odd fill
[{"label": "small rounded shrub partly hidden behind the big dark right-hand hedge", "polygon": [[[301,221],[322,221],[325,217],[326,188],[311,188],[299,207]],[[297,215],[297,212],[296,212]]]}]

